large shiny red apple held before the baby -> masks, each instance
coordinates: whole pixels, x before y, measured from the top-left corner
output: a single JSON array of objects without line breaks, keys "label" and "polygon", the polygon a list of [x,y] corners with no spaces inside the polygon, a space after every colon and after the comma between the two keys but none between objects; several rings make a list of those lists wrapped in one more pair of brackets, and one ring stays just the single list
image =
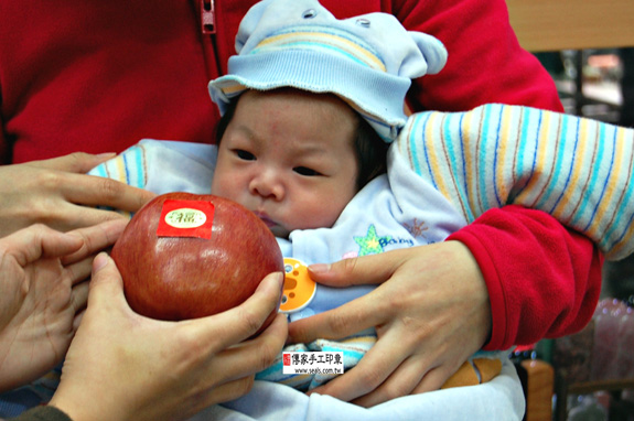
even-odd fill
[{"label": "large shiny red apple held before the baby", "polygon": [[223,197],[190,193],[146,204],[115,244],[112,259],[130,306],[169,321],[232,309],[268,273],[283,271],[279,246],[255,214]]}]

